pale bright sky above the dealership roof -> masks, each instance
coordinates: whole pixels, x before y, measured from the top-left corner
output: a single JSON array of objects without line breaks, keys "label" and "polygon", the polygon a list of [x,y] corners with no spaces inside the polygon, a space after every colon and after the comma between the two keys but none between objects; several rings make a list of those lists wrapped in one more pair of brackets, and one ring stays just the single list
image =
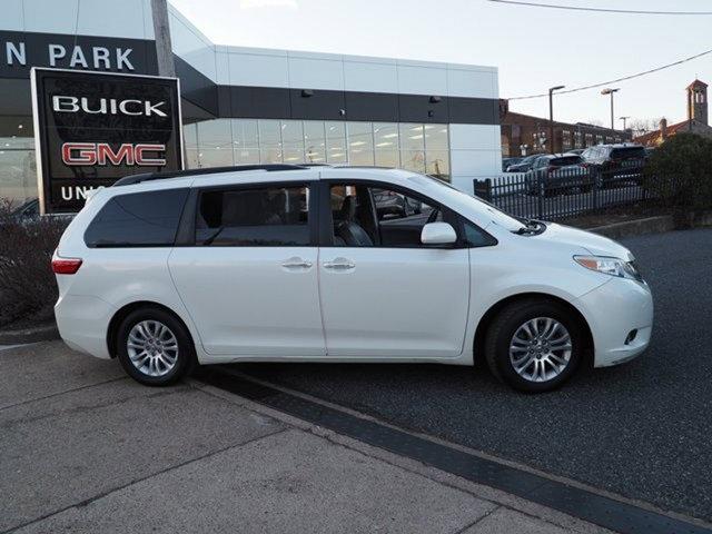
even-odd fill
[{"label": "pale bright sky above the dealership roof", "polygon": [[[575,88],[712,49],[712,16],[650,16],[507,6],[487,0],[169,0],[215,43],[494,66],[503,98]],[[536,0],[531,0],[536,1]],[[712,0],[540,0],[659,11],[712,11]],[[685,119],[685,87],[712,85],[712,55],[619,82],[619,117]],[[512,100],[547,117],[548,100]],[[609,126],[601,89],[560,95],[558,120]]]}]

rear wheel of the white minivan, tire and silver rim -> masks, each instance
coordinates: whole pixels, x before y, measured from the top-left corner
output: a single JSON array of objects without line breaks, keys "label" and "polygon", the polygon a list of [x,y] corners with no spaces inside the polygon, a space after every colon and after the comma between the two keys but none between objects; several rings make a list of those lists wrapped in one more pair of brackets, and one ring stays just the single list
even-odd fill
[{"label": "rear wheel of the white minivan, tire and silver rim", "polygon": [[186,327],[159,308],[131,312],[119,326],[116,350],[123,370],[148,386],[176,383],[196,362]]}]

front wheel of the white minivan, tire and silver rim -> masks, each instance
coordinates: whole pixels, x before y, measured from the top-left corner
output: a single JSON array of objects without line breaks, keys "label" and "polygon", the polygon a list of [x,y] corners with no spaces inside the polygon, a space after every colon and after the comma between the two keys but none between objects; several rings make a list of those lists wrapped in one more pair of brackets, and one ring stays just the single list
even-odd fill
[{"label": "front wheel of the white minivan, tire and silver rim", "polygon": [[582,352],[580,325],[566,309],[548,300],[505,307],[485,340],[493,375],[526,393],[560,387],[576,370]]}]

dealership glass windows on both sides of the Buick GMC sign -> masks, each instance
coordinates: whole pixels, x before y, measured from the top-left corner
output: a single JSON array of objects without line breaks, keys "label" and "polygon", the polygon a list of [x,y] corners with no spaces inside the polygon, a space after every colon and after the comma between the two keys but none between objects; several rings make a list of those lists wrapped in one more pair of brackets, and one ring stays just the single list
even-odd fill
[{"label": "dealership glass windows on both sides of the Buick GMC sign", "polygon": [[[0,117],[0,198],[37,198],[31,117]],[[186,166],[349,164],[399,167],[449,180],[447,125],[214,119],[184,126]]]}]

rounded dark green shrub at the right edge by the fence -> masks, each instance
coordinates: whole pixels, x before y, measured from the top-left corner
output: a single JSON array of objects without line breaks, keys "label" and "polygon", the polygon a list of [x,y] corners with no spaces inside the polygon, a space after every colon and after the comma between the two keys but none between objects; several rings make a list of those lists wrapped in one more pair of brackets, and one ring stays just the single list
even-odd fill
[{"label": "rounded dark green shrub at the right edge by the fence", "polygon": [[645,167],[645,187],[668,207],[691,214],[712,208],[712,139],[679,134]]}]

